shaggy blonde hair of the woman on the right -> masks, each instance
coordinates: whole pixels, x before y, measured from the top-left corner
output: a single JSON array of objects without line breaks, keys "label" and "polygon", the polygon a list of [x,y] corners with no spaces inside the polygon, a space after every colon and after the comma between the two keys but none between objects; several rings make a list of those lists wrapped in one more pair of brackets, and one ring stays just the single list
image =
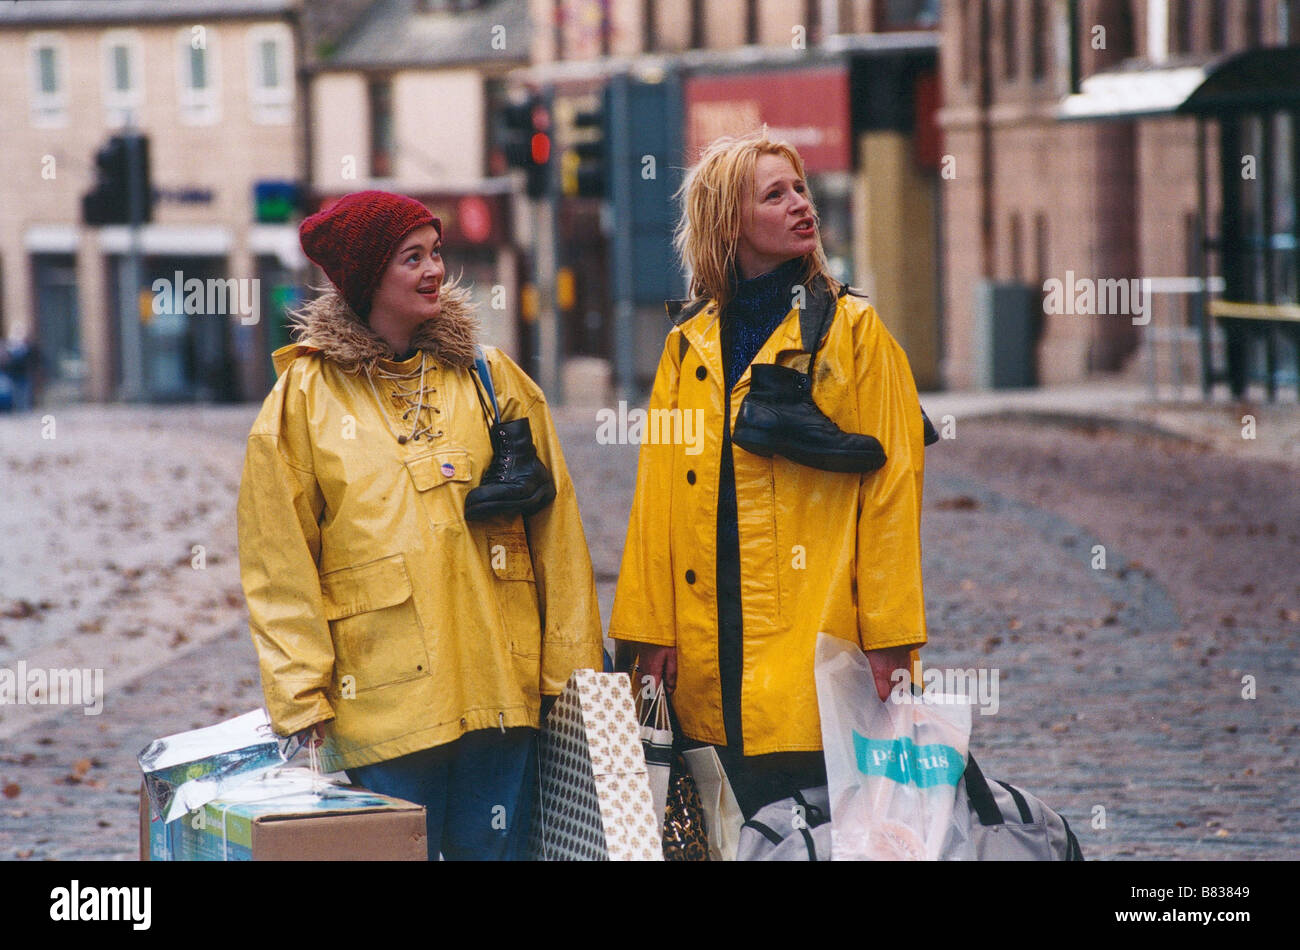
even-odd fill
[{"label": "shaggy blonde hair of the woman on the right", "polygon": [[[690,274],[690,296],[712,298],[719,308],[731,302],[732,274],[736,270],[736,248],[744,230],[744,216],[753,201],[754,169],[758,156],[779,155],[788,159],[794,173],[807,181],[803,159],[794,147],[767,136],[767,126],[748,135],[724,135],[705,148],[699,161],[686,172],[677,190],[681,217],[673,234],[673,246],[681,265]],[[812,194],[807,192],[812,214]],[[822,250],[818,234],[816,250],[803,257],[803,283],[822,278],[838,290]]]}]

